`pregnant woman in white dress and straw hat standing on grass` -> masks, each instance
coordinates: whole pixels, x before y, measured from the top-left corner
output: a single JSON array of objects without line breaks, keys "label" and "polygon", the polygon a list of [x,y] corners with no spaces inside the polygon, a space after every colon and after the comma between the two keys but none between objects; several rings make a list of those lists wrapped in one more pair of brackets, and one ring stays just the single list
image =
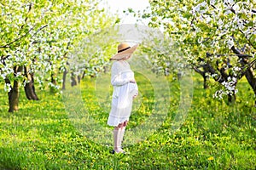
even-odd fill
[{"label": "pregnant woman in white dress and straw hat standing on grass", "polygon": [[108,116],[108,125],[113,126],[113,151],[112,153],[125,153],[121,148],[125,127],[131,116],[132,100],[137,97],[138,88],[129,63],[131,54],[138,45],[130,47],[126,42],[118,46],[118,54],[111,68],[111,84],[113,85],[113,98],[111,111]]}]

